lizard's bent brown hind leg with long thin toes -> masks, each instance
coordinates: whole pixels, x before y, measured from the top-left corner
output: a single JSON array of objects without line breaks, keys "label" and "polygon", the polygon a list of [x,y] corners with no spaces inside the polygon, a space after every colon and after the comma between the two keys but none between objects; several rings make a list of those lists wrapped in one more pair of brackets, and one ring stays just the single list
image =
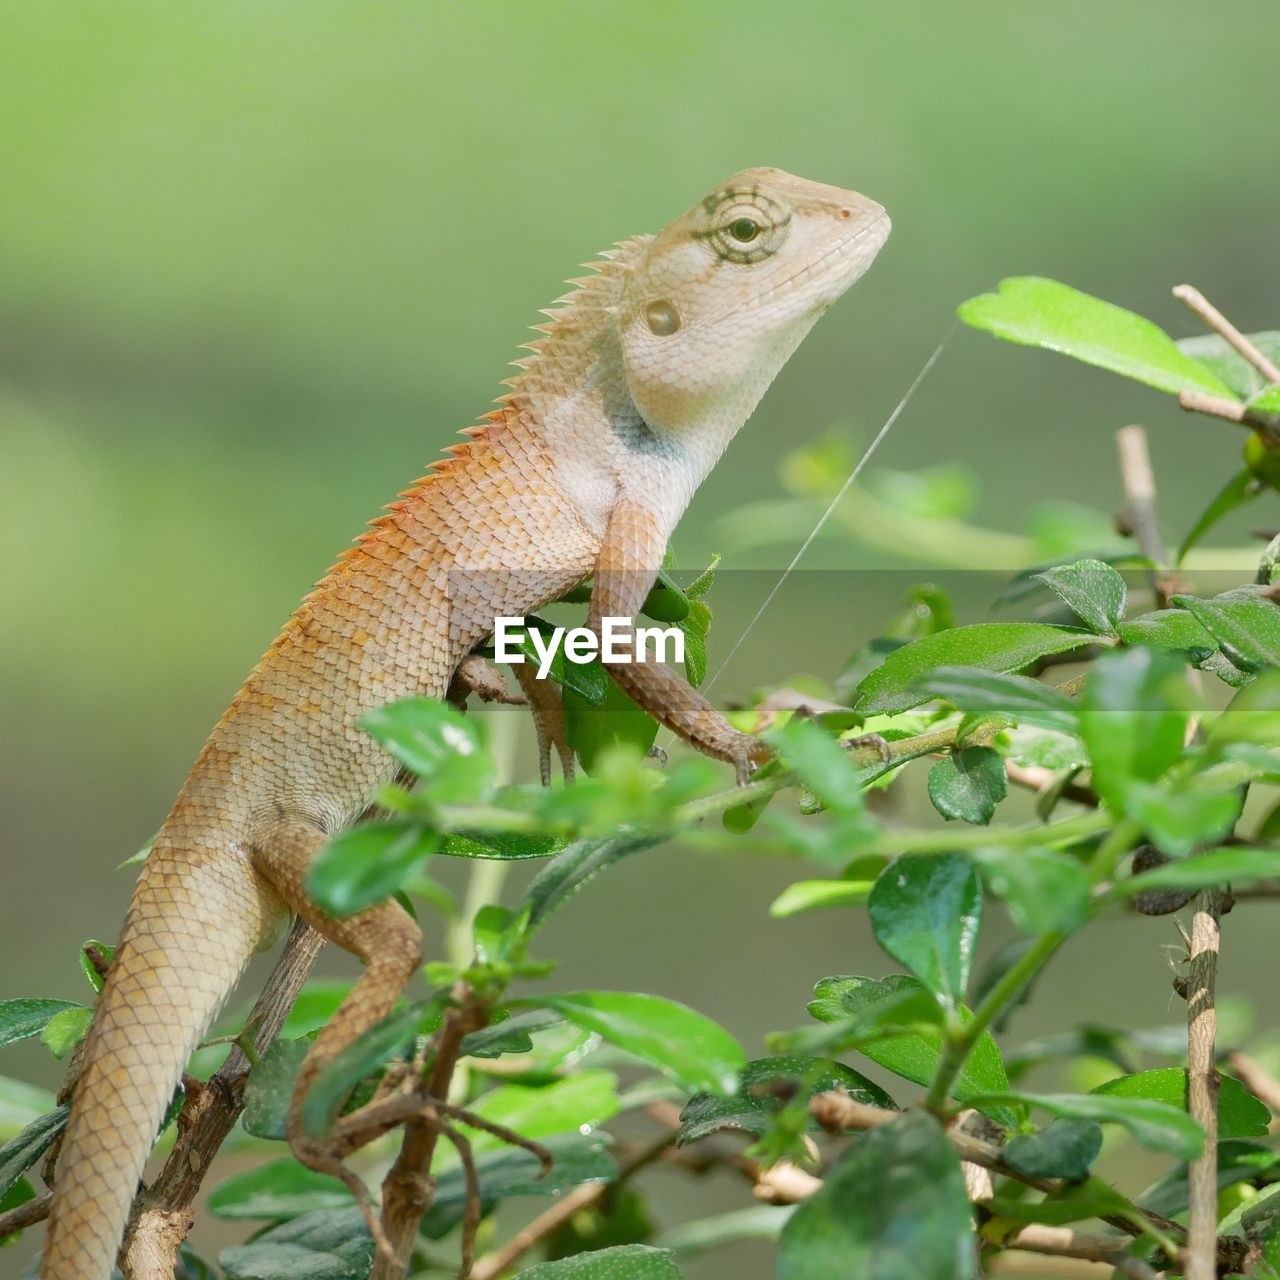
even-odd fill
[{"label": "lizard's bent brown hind leg with long thin toes", "polygon": [[[367,1198],[358,1179],[342,1165],[334,1148],[321,1135],[302,1126],[302,1102],[320,1071],[348,1044],[353,1044],[387,1018],[422,961],[422,933],[412,916],[388,901],[339,918],[323,911],[306,891],[307,869],[328,836],[307,822],[283,820],[255,841],[253,865],[276,893],[314,929],[364,961],[365,970],[347,998],[321,1029],[303,1059],[289,1102],[288,1138],[294,1156],[308,1169],[333,1174],[352,1187],[367,1212]],[[375,1224],[374,1238],[379,1233]]]}]

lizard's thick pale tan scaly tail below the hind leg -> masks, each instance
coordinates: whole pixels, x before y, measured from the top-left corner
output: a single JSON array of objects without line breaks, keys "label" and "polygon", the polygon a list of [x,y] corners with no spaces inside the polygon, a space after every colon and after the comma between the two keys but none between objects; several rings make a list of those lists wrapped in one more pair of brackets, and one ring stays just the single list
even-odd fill
[{"label": "lizard's thick pale tan scaly tail below the hind leg", "polygon": [[283,908],[248,859],[156,842],[84,1046],[40,1280],[109,1280],[187,1060]]}]

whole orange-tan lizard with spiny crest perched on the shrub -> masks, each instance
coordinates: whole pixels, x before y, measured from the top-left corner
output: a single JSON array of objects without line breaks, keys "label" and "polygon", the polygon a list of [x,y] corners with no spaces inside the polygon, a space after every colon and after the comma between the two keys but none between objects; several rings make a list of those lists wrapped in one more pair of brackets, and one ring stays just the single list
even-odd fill
[{"label": "whole orange-tan lizard with spiny crest perched on the shrub", "polygon": [[[339,919],[307,895],[312,858],[397,774],[356,718],[399,698],[445,698],[495,617],[588,579],[590,627],[632,618],[694,492],[888,232],[865,196],[756,168],[655,236],[618,242],[544,312],[497,408],[303,599],[212,730],[143,864],[83,1046],[41,1280],[108,1280],[189,1055],[292,915],[364,963],[293,1096],[293,1149],[319,1167],[300,1100],[390,1012],[422,951],[394,900]],[[768,758],[675,669],[608,669],[740,781]]]}]

